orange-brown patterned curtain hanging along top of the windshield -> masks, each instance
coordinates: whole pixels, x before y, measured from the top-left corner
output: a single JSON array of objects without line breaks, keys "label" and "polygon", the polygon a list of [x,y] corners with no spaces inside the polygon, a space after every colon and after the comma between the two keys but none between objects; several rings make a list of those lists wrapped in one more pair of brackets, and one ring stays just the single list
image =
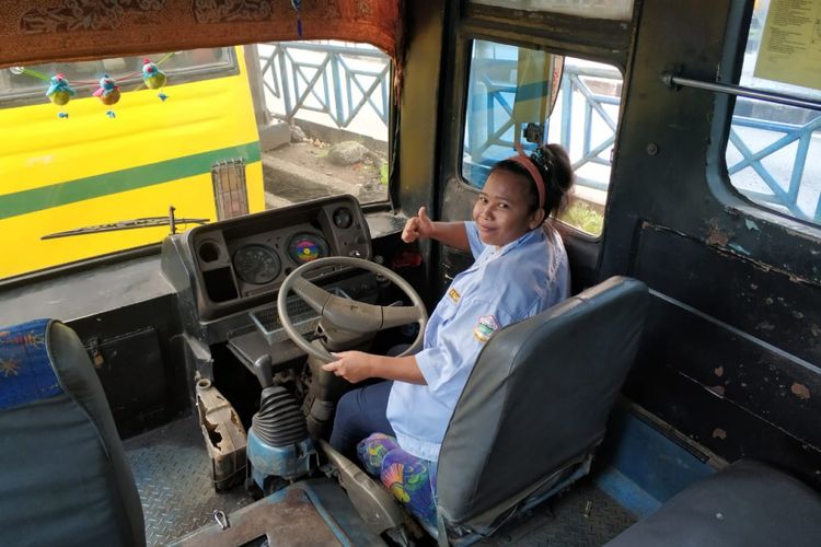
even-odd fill
[{"label": "orange-brown patterned curtain hanging along top of the windshield", "polygon": [[293,39],[368,42],[401,67],[402,0],[0,0],[0,67]]}]

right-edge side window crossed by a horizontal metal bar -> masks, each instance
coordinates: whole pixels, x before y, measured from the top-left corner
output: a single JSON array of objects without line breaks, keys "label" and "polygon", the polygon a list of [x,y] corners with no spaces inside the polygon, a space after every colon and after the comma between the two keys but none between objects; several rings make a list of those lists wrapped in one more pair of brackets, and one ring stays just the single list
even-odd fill
[{"label": "right-edge side window crossed by a horizontal metal bar", "polygon": [[[793,47],[799,44],[790,42],[801,40],[803,26],[818,36],[808,39],[818,42],[821,23],[814,18],[802,22],[803,18],[779,12],[801,8],[790,2],[755,2],[740,85],[821,100],[821,89],[810,86],[813,78],[821,81],[818,67],[805,70],[806,67],[795,62],[791,53],[800,48]],[[821,224],[821,162],[811,161],[818,158],[821,158],[820,112],[752,98],[736,100],[726,160],[730,182],[743,196],[767,209]]]}]

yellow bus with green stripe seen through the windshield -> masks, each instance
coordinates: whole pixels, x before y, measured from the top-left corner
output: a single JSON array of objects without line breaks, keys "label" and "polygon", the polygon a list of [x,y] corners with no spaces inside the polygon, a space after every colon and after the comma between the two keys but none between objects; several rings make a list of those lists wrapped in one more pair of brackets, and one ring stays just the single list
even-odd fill
[{"label": "yellow bus with green stripe seen through the windshield", "polygon": [[[250,212],[265,208],[259,138],[242,48],[233,74],[157,90],[123,86],[119,103],[72,100],[0,108],[0,279],[155,243],[167,226],[43,235],[167,214],[217,220],[211,166],[244,159]],[[45,88],[44,88],[45,92]],[[116,117],[108,117],[112,108]]]}]

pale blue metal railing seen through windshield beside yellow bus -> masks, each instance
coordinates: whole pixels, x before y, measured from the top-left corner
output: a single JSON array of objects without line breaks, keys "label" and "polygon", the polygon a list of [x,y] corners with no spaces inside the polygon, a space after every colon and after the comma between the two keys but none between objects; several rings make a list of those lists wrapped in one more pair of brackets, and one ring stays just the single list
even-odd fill
[{"label": "pale blue metal railing seen through windshield beside yellow bus", "polygon": [[301,110],[316,112],[347,128],[369,106],[388,127],[391,60],[379,49],[279,42],[257,50],[263,84],[282,102],[273,114],[292,121]]}]

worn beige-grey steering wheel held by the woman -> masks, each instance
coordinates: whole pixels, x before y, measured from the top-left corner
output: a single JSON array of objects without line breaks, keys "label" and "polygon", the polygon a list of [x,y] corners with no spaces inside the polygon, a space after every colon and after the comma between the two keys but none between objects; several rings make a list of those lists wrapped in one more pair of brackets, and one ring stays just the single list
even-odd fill
[{"label": "worn beige-grey steering wheel held by the woman", "polygon": [[[410,299],[410,306],[378,306],[359,302],[357,300],[345,299],[331,294],[314,283],[308,281],[303,276],[309,271],[325,268],[328,266],[349,266],[361,268],[391,280],[396,287]],[[419,294],[405,281],[398,274],[394,272],[375,263],[362,258],[348,256],[332,256],[327,258],[317,258],[310,263],[303,264],[296,270],[291,271],[282,281],[277,298],[277,313],[279,323],[282,325],[288,337],[307,353],[329,363],[336,361],[325,348],[317,347],[305,340],[302,335],[293,327],[293,322],[288,315],[288,293],[296,292],[305,303],[311,306],[321,317],[327,319],[332,325],[340,330],[348,330],[357,334],[375,333],[391,327],[398,327],[408,323],[419,324],[419,334],[410,345],[398,357],[416,353],[421,348],[421,341],[425,336],[425,325],[428,322],[428,312]]]}]

